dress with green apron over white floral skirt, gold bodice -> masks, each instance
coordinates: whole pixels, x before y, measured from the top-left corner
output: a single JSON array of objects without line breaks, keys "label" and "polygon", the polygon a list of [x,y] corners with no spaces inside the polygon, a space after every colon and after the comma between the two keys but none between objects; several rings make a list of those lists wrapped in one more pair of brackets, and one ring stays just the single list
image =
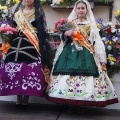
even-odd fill
[{"label": "dress with green apron over white floral skirt, gold bodice", "polygon": [[[77,24],[86,31],[86,37],[89,36],[88,21]],[[58,59],[54,60],[48,100],[82,106],[106,106],[117,103],[118,98],[113,85],[107,74],[102,71],[101,65],[96,64],[92,51],[85,46],[77,50],[70,38],[64,42],[62,36],[61,44],[64,44],[64,47],[61,54],[58,54]],[[87,44],[91,46],[88,39]]]}]

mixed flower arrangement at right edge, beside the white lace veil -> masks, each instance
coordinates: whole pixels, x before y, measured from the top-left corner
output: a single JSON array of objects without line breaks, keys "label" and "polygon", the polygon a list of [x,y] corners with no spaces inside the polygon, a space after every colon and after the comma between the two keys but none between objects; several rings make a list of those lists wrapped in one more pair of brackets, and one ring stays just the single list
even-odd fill
[{"label": "mixed flower arrangement at right edge, beside the white lace veil", "polygon": [[120,25],[112,23],[99,23],[100,36],[103,40],[107,55],[107,70],[109,75],[113,75],[120,70]]}]

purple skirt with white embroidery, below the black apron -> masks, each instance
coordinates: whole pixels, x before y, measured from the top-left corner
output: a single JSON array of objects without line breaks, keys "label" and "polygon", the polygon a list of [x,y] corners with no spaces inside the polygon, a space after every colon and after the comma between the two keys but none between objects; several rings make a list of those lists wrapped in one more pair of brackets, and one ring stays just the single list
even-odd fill
[{"label": "purple skirt with white embroidery, below the black apron", "polygon": [[44,96],[45,78],[41,60],[33,63],[1,63],[0,95]]}]

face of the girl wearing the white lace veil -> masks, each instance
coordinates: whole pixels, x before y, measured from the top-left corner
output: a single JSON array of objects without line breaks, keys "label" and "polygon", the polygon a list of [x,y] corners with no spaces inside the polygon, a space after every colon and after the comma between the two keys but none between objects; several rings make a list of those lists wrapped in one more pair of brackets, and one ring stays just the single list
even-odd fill
[{"label": "face of the girl wearing the white lace veil", "polygon": [[87,7],[84,3],[78,3],[76,6],[76,13],[78,18],[86,18]]}]

